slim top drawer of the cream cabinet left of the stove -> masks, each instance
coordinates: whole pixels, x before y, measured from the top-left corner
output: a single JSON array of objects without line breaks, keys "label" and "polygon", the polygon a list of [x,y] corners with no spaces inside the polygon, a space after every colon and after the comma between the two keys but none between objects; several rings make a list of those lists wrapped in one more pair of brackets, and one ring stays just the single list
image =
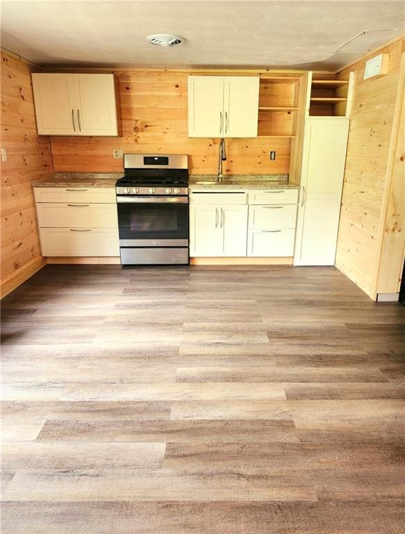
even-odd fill
[{"label": "slim top drawer of the cream cabinet left of the stove", "polygon": [[35,202],[116,203],[115,187],[35,187]]}]

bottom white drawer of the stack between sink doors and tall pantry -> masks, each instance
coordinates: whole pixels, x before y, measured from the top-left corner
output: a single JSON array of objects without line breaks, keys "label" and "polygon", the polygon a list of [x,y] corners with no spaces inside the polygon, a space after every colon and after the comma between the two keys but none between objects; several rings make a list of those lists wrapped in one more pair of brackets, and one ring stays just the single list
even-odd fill
[{"label": "bottom white drawer of the stack between sink doors and tall pantry", "polygon": [[294,229],[270,232],[249,230],[247,255],[260,257],[291,257],[294,255]]}]

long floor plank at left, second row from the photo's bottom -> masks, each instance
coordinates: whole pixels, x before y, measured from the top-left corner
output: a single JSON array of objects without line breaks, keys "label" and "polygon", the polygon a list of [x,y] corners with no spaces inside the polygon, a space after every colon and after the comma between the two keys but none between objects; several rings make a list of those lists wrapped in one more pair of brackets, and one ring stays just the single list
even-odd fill
[{"label": "long floor plank at left, second row from the photo's bottom", "polygon": [[5,501],[317,501],[299,471],[179,475],[172,469],[18,471]]}]

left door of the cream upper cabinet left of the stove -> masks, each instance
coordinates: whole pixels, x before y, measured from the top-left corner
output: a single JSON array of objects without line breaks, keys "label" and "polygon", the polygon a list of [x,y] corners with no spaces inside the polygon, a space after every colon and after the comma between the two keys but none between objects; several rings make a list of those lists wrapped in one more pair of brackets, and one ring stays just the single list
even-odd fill
[{"label": "left door of the cream upper cabinet left of the stove", "polygon": [[39,135],[78,133],[76,89],[72,74],[32,74]]}]

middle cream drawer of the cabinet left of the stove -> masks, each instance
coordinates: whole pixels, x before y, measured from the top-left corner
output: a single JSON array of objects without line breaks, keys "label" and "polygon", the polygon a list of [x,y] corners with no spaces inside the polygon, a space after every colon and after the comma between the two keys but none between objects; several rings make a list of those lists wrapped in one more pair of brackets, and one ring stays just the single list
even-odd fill
[{"label": "middle cream drawer of the cabinet left of the stove", "polygon": [[117,204],[37,204],[38,226],[54,228],[114,228],[118,225]]}]

